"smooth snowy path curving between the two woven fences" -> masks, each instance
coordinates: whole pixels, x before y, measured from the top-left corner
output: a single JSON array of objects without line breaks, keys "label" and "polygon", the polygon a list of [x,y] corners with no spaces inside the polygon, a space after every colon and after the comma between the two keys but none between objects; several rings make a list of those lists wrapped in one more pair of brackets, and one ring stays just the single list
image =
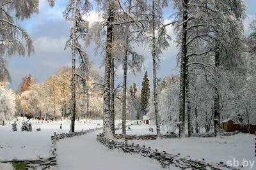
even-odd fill
[{"label": "smooth snowy path curving between the two woven fences", "polygon": [[[156,160],[109,150],[96,141],[100,131],[63,139],[57,145],[58,170],[153,170],[162,169]],[[177,169],[177,168],[175,168]]]}]

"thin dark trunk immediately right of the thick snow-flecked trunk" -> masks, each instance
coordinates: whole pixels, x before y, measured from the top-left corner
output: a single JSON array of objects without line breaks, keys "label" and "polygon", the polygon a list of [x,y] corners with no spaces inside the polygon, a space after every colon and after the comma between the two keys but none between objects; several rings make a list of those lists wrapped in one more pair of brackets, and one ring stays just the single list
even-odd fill
[{"label": "thin dark trunk immediately right of the thick snow-flecked trunk", "polygon": [[115,134],[115,60],[111,60],[111,131]]}]

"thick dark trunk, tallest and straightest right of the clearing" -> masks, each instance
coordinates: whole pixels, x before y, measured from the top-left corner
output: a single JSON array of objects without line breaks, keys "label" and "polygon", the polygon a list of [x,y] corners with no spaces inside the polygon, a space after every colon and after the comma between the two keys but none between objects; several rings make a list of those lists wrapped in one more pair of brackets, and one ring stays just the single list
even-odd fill
[{"label": "thick dark trunk, tallest and straightest right of the clearing", "polygon": [[180,94],[179,94],[179,138],[185,138],[185,83],[186,83],[186,55],[187,55],[187,22],[188,19],[188,2],[183,0],[182,12],[182,42],[181,42],[181,62],[180,62]]}]

